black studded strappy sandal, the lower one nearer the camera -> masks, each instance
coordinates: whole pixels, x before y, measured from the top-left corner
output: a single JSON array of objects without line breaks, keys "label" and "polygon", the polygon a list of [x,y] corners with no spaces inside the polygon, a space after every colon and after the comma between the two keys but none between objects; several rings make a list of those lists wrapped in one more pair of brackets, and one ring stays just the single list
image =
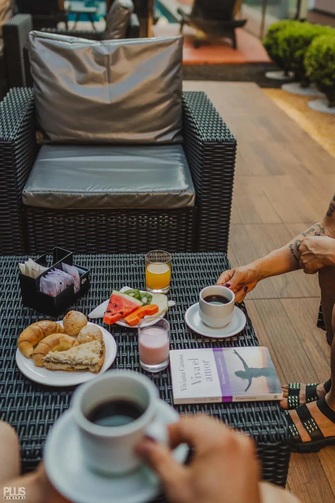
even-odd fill
[{"label": "black studded strappy sandal, the lower one nearer the camera", "polygon": [[[316,401],[316,405],[320,412],[329,419],[335,425],[335,411],[333,411],[325,398],[319,398]],[[297,427],[292,420],[291,415],[287,410],[285,414],[287,416],[287,421],[289,425],[290,432],[292,434],[291,439],[291,449],[293,452],[307,453],[307,452],[318,452],[322,447],[327,447],[328,445],[335,445],[335,437],[325,437],[321,432],[320,428],[317,426],[316,421],[312,414],[309,412],[307,405],[300,405],[296,409],[299,419],[305,428],[306,432],[310,437],[310,442],[303,442],[301,440],[300,434]]]}]

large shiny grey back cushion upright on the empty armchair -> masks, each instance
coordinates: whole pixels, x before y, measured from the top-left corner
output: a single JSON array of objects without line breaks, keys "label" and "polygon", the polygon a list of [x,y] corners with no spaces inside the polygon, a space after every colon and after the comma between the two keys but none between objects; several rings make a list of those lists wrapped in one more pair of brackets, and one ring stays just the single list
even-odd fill
[{"label": "large shiny grey back cushion upright on the empty armchair", "polygon": [[33,31],[37,119],[53,142],[180,143],[182,37],[78,39]]}]

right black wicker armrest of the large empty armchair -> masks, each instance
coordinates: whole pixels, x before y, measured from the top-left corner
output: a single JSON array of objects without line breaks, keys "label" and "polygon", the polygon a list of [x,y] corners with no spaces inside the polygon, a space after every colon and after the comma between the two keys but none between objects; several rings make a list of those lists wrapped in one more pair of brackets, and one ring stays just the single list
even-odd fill
[{"label": "right black wicker armrest of the large empty armchair", "polygon": [[183,136],[196,190],[196,251],[226,253],[236,140],[202,92],[183,93]]}]

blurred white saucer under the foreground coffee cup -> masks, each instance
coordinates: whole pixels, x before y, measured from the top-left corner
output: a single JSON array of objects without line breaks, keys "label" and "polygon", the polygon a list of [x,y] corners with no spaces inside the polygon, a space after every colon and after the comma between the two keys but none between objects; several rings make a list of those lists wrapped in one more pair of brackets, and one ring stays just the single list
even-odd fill
[{"label": "blurred white saucer under the foreground coffee cup", "polygon": [[[159,400],[158,417],[165,424],[178,421],[178,412]],[[71,409],[64,412],[49,432],[44,447],[44,465],[52,485],[76,503],[144,503],[157,496],[160,485],[156,475],[142,466],[122,476],[99,475],[87,468],[79,443],[79,433]],[[174,450],[174,458],[183,463],[188,446]]]}]

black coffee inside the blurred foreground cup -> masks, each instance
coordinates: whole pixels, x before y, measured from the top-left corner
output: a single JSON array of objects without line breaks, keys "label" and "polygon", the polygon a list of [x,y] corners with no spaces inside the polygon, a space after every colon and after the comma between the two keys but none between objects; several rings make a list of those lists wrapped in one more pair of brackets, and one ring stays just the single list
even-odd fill
[{"label": "black coffee inside the blurred foreground cup", "polygon": [[128,400],[110,400],[97,405],[87,418],[99,426],[124,426],[138,419],[144,409],[135,402]]}]

